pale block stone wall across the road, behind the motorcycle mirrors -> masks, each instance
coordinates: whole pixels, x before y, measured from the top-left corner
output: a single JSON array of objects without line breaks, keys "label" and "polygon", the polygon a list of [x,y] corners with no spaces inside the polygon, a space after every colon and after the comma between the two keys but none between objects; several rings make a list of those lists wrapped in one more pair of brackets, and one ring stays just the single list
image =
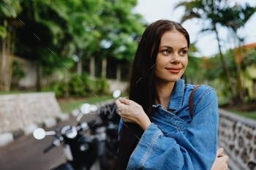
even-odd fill
[{"label": "pale block stone wall across the road, behind the motorcycle mirrors", "polygon": [[61,115],[55,93],[51,92],[2,95],[0,108],[0,134],[20,131]]}]

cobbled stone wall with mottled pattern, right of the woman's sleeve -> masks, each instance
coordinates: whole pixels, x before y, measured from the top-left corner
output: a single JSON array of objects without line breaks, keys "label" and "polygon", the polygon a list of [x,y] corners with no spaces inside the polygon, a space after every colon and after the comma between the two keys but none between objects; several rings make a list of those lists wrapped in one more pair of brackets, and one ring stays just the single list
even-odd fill
[{"label": "cobbled stone wall with mottled pattern, right of the woman's sleeve", "polygon": [[219,109],[219,147],[232,170],[256,170],[256,121]]}]

